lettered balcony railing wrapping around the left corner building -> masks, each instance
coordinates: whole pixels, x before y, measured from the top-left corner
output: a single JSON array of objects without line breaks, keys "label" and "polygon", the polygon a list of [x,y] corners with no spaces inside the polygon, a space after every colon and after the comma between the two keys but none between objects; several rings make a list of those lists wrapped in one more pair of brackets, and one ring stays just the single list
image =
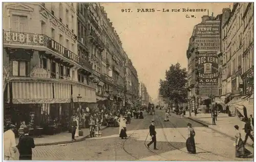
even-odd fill
[{"label": "lettered balcony railing wrapping around the left corner building", "polygon": [[66,57],[71,61],[76,63],[80,61],[79,56],[45,34],[4,31],[4,45],[5,44],[25,44],[32,45],[35,48],[46,47],[56,52],[59,56]]}]

